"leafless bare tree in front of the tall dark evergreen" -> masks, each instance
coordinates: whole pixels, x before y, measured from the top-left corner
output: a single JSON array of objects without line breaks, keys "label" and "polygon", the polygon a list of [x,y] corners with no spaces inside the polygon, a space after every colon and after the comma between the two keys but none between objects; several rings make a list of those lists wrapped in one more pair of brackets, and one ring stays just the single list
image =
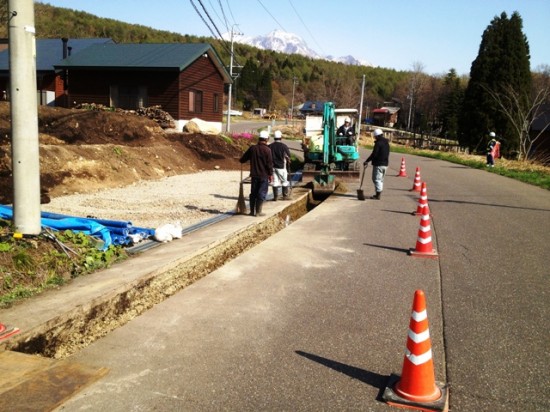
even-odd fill
[{"label": "leafless bare tree in front of the tall dark evergreen", "polygon": [[[542,110],[544,108],[543,103],[550,97],[550,88],[539,89],[526,105],[522,104],[521,96],[511,85],[503,87],[501,92],[496,92],[486,86],[484,86],[484,89],[494,99],[517,133],[519,140],[518,160],[529,160],[529,153],[531,153],[533,144],[550,127],[550,119],[543,117],[545,113]],[[538,133],[531,135],[531,126],[539,118],[546,123]]]}]

